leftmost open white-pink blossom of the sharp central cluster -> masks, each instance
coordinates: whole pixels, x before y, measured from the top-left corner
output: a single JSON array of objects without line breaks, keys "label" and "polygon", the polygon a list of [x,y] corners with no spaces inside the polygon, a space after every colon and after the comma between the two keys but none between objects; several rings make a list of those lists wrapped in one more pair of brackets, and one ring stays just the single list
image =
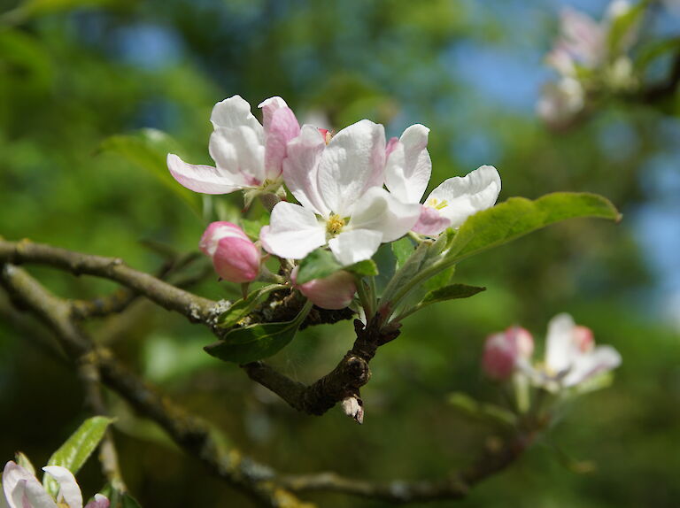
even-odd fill
[{"label": "leftmost open white-pink blossom of the sharp central cluster", "polygon": [[299,134],[300,127],[281,97],[271,97],[259,108],[264,126],[252,116],[251,105],[241,96],[215,104],[210,117],[214,130],[209,145],[215,167],[187,164],[171,153],[167,155],[167,167],[174,179],[187,189],[204,194],[279,189],[287,144]]}]

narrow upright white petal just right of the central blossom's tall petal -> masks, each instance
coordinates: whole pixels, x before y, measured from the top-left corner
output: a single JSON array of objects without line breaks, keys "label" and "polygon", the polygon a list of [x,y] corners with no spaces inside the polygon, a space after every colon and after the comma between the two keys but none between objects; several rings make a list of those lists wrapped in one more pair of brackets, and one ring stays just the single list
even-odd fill
[{"label": "narrow upright white petal just right of the central blossom's tall petal", "polygon": [[429,128],[408,127],[390,152],[385,165],[385,186],[406,203],[418,203],[428,187],[432,161],[428,153]]}]

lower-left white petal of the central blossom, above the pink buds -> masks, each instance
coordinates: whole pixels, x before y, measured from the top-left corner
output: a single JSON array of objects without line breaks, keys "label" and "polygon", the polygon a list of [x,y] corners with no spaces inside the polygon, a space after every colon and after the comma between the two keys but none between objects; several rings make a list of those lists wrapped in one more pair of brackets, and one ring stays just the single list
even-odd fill
[{"label": "lower-left white petal of the central blossom, above the pink buds", "polygon": [[282,201],[274,206],[269,226],[262,227],[259,240],[265,250],[280,258],[302,259],[326,244],[326,228],[314,212]]}]

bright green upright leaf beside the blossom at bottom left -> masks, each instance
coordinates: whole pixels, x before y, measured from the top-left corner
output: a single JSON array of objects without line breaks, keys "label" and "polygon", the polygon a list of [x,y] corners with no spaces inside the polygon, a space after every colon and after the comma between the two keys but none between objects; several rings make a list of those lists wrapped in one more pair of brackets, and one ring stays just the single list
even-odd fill
[{"label": "bright green upright leaf beside the blossom at bottom left", "polygon": [[[86,419],[81,427],[78,427],[78,430],[66,440],[66,443],[52,454],[47,465],[63,466],[73,474],[78,473],[90,454],[97,448],[104,437],[106,428],[111,425],[112,421],[104,416]],[[42,477],[42,486],[51,496],[57,497],[59,485],[49,474]]]}]

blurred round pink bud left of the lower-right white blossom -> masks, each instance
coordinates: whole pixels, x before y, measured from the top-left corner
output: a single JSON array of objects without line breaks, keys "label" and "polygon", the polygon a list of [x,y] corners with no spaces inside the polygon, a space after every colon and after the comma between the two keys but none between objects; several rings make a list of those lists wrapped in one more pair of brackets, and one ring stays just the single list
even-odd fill
[{"label": "blurred round pink bud left of the lower-right white blossom", "polygon": [[513,375],[517,364],[531,357],[534,339],[522,327],[509,327],[490,335],[484,343],[482,367],[493,380],[503,381]]}]

